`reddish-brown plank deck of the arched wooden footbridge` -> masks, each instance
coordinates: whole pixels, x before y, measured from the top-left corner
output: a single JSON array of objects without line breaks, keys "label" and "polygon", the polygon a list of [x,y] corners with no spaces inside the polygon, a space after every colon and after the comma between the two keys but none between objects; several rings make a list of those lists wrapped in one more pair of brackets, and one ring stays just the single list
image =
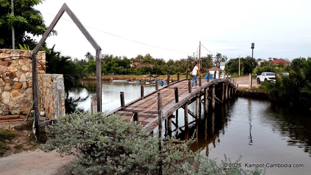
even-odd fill
[{"label": "reddish-brown plank deck of the arched wooden footbridge", "polygon": [[[198,95],[204,95],[204,89],[207,88],[207,90],[209,90],[212,85],[226,83],[230,85],[230,87],[233,87],[234,90],[237,90],[234,84],[227,79],[211,79],[209,82],[207,82],[206,79],[202,79],[202,85],[195,89],[191,89],[191,93],[189,93],[188,80],[176,81],[169,86],[159,89],[162,97],[163,120],[172,115],[177,109],[183,107],[185,103],[190,102],[193,98],[196,98]],[[197,80],[197,82],[199,84],[199,80]],[[175,102],[175,87],[178,88],[178,103]],[[157,91],[153,91],[145,95],[143,99],[142,97],[138,98],[126,104],[125,108],[119,107],[107,115],[118,112],[120,115],[125,116],[127,121],[130,121],[133,120],[134,112],[138,112],[138,121],[141,122],[146,132],[151,132],[159,122],[157,97]]]}]

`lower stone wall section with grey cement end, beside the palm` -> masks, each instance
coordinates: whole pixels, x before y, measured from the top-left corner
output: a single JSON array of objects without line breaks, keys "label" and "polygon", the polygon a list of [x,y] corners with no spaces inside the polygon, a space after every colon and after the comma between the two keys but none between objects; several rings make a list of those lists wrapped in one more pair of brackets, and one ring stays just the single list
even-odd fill
[{"label": "lower stone wall section with grey cement end, beside the palm", "polygon": [[38,75],[39,109],[49,119],[65,115],[65,89],[62,74]]}]

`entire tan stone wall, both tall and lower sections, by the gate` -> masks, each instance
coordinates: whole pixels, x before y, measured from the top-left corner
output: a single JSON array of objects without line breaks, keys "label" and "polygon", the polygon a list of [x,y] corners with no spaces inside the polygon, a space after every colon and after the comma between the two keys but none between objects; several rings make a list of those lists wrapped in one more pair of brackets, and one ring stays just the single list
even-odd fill
[{"label": "entire tan stone wall, both tall and lower sections, by the gate", "polygon": [[[33,103],[29,50],[0,49],[0,115],[27,115]],[[37,54],[39,108],[51,119],[65,114],[63,75],[45,73],[45,52]],[[40,65],[41,64],[41,65]]]}]

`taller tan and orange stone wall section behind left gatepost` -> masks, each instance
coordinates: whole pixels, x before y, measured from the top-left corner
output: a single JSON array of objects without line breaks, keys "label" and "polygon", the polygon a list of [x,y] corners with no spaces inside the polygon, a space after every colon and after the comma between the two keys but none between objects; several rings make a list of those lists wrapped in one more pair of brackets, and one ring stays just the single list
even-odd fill
[{"label": "taller tan and orange stone wall section behind left gatepost", "polygon": [[[0,49],[0,115],[26,115],[33,102],[29,50]],[[45,73],[45,52],[37,54],[38,73]]]}]

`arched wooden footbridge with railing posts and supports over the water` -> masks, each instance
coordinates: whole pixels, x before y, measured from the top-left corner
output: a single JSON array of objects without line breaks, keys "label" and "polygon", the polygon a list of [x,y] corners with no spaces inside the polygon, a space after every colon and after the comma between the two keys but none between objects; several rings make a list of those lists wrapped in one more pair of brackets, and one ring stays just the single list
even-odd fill
[{"label": "arched wooden footbridge with railing posts and supports over the water", "polygon": [[[127,121],[138,121],[147,133],[159,125],[159,121],[168,119],[168,129],[171,129],[172,114],[179,108],[185,109],[185,126],[188,127],[188,104],[196,102],[196,113],[193,117],[198,119],[199,103],[204,100],[204,108],[207,110],[207,99],[211,100],[212,108],[216,103],[223,103],[224,100],[233,98],[237,93],[234,79],[201,79],[198,78],[199,87],[192,89],[192,81],[188,78],[170,83],[170,76],[167,77],[167,86],[159,89],[156,83],[156,90],[144,95],[144,85],[141,86],[141,97],[124,104],[124,92],[120,92],[121,107],[107,113],[118,112],[126,117]],[[188,77],[188,75],[186,75]],[[209,77],[209,74],[207,74]],[[157,80],[155,82],[158,82]],[[201,100],[201,97],[204,97]],[[162,125],[160,123],[160,125]]]}]

